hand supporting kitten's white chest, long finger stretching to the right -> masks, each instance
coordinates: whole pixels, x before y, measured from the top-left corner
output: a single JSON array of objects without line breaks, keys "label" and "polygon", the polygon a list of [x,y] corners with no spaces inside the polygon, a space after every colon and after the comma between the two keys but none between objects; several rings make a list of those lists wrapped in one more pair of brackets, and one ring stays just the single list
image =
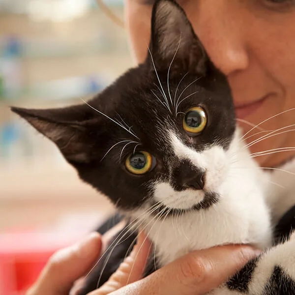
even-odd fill
[{"label": "hand supporting kitten's white chest, long finger stretching to the right", "polygon": [[[141,244],[143,246],[140,250]],[[260,251],[247,245],[228,245],[194,251],[158,269],[148,277],[132,282],[132,279],[139,279],[142,276],[147,254],[148,245],[145,236],[141,234],[138,246],[128,260],[125,260],[105,285],[89,295],[207,294],[234,275],[250,259],[259,255]],[[128,271],[132,271],[132,275]],[[128,275],[129,284],[123,286],[122,281],[126,282]]]}]

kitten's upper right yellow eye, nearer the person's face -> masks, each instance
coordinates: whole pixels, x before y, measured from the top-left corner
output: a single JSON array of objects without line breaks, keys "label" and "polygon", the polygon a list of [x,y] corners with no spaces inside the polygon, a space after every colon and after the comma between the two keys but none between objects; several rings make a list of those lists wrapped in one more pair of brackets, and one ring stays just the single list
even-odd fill
[{"label": "kitten's upper right yellow eye, nearer the person's face", "polygon": [[203,108],[189,109],[183,118],[183,129],[191,136],[201,133],[207,125],[207,115]]}]

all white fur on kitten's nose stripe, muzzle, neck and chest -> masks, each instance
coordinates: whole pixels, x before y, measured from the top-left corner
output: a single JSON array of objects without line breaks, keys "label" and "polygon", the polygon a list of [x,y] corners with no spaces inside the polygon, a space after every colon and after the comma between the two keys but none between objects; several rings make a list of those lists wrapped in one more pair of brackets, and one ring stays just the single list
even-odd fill
[{"label": "all white fur on kitten's nose stripe, muzzle, neck and chest", "polygon": [[[181,216],[167,215],[165,219],[148,214],[147,207],[133,214],[143,222],[146,233],[154,242],[160,265],[190,251],[221,244],[269,247],[272,234],[263,191],[264,175],[239,141],[238,133],[229,150],[213,147],[202,153],[186,147],[175,135],[170,133],[170,136],[177,157],[189,159],[207,170],[205,190],[218,193],[220,200],[208,209]],[[201,196],[189,190],[175,192],[169,184],[162,183],[157,184],[156,198],[165,204],[171,202],[174,206],[185,207],[199,202]]]}]

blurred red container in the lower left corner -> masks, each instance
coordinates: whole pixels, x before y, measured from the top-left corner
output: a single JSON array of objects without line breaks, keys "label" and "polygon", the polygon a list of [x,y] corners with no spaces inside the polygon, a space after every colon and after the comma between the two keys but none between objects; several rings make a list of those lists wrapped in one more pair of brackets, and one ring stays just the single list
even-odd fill
[{"label": "blurred red container in the lower left corner", "polygon": [[0,234],[0,295],[25,294],[49,257],[82,236],[44,232]]}]

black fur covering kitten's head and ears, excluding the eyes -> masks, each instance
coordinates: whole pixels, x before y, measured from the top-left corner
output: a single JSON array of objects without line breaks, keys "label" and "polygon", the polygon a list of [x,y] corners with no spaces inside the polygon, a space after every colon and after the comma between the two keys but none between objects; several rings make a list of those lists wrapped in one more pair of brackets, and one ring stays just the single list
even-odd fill
[{"label": "black fur covering kitten's head and ears, excluding the eyes", "polygon": [[[169,16],[174,17],[173,22]],[[172,0],[157,1],[152,20],[153,59],[148,56],[143,64],[127,71],[92,98],[89,105],[51,110],[12,108],[55,142],[82,180],[127,211],[152,197],[150,183],[162,180],[181,186],[178,176],[191,171],[174,154],[167,130],[172,130],[188,147],[202,151],[217,144],[228,148],[236,127],[226,77],[210,63],[181,7]],[[167,47],[163,38],[168,43],[177,41]],[[171,112],[164,105],[158,79]],[[170,96],[173,101],[180,94],[182,102],[176,110]],[[206,111],[207,126],[201,134],[191,137],[183,129],[182,121],[184,113],[195,106]],[[118,126],[118,122],[125,128]],[[125,168],[126,158],[135,149],[148,151],[156,160],[154,169],[145,175],[133,175]],[[178,169],[177,174],[170,171],[171,167]]]}]

